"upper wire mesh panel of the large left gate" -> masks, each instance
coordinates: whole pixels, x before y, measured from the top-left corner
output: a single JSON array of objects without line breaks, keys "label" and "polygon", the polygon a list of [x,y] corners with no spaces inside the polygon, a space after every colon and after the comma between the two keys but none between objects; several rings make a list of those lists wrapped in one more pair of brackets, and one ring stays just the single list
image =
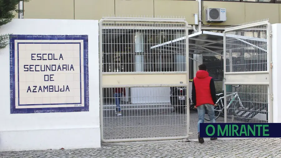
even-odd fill
[{"label": "upper wire mesh panel of the large left gate", "polygon": [[185,40],[151,48],[185,37],[185,24],[116,22],[104,23],[102,30],[103,72],[186,71]]}]

